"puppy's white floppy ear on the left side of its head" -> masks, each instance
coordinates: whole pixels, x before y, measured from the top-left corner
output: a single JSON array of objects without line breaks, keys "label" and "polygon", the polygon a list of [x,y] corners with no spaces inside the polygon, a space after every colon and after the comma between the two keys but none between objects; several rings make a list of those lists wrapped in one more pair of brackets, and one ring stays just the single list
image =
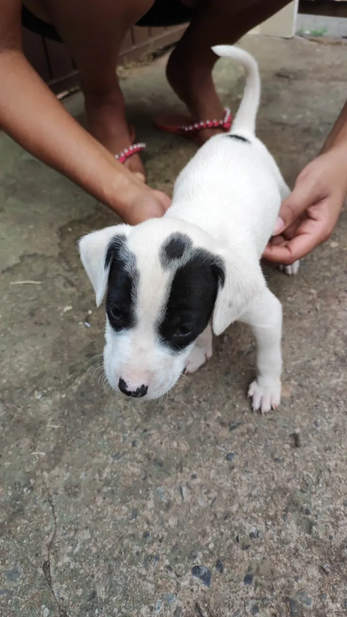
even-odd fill
[{"label": "puppy's white floppy ear on the left side of its head", "polygon": [[[113,240],[125,240],[131,230],[130,225],[113,225],[103,230],[92,231],[78,242],[81,262],[95,291],[97,307],[105,296],[108,271],[112,256],[108,249]],[[119,242],[117,243],[119,246]]]}]

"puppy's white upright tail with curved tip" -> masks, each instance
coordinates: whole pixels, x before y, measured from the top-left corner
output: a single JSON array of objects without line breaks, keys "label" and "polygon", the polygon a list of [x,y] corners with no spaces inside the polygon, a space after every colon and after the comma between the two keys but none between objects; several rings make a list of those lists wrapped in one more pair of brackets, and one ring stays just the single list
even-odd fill
[{"label": "puppy's white upright tail with curved tip", "polygon": [[260,75],[258,62],[244,49],[231,45],[216,45],[212,48],[217,56],[239,60],[246,72],[246,84],[240,107],[232,123],[232,132],[255,133],[256,114],[260,102]]}]

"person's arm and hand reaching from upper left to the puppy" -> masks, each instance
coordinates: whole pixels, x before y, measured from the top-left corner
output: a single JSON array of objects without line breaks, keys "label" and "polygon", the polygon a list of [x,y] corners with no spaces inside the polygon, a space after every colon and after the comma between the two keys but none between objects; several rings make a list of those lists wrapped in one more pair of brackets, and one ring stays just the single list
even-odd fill
[{"label": "person's arm and hand reaching from upper left to the puppy", "polygon": [[20,146],[136,224],[169,198],[137,180],[63,108],[22,53],[21,2],[0,0],[0,126]]}]

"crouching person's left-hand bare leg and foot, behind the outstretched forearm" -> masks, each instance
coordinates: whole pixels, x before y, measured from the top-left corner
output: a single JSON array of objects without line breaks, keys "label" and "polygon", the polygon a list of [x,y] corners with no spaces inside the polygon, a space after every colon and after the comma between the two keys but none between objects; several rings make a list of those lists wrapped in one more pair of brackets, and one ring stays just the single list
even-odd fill
[{"label": "crouching person's left-hand bare leg and foot, behind the outstretched forearm", "polygon": [[[152,6],[152,0],[44,0],[44,9],[80,71],[88,128],[112,154],[133,142],[116,62],[126,31]],[[144,178],[139,155],[125,165]]]}]

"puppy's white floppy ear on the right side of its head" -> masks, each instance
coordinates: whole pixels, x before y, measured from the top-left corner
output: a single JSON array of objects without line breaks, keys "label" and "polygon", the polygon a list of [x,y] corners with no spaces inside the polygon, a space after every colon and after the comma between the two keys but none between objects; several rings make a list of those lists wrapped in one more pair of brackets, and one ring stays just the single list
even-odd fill
[{"label": "puppy's white floppy ear on the right side of its head", "polygon": [[214,267],[219,282],[212,327],[214,334],[219,336],[243,315],[248,304],[266,287],[266,281],[256,257],[245,260],[224,255]]}]

